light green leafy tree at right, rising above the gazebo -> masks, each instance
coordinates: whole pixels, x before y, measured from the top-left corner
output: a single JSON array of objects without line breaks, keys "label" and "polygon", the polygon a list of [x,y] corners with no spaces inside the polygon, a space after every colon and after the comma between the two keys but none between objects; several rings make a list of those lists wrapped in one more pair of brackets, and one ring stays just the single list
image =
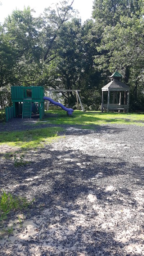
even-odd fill
[{"label": "light green leafy tree at right, rising above the gazebo", "polygon": [[101,41],[96,48],[99,52],[95,57],[98,69],[103,70],[105,74],[118,70],[122,73],[124,81],[131,85],[132,90],[135,86],[138,87],[138,84],[141,87],[144,75],[142,1],[102,1],[101,9],[99,1],[94,3],[93,15],[96,22],[102,22],[103,27]]}]

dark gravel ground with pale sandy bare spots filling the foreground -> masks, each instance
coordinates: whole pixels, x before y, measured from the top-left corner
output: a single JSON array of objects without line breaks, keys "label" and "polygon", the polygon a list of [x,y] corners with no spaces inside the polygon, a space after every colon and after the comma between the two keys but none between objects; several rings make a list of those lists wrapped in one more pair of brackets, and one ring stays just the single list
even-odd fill
[{"label": "dark gravel ground with pale sandy bare spots filling the foreground", "polygon": [[[52,126],[35,122],[0,128]],[[27,166],[0,160],[0,187],[35,198],[22,225],[11,216],[13,235],[0,240],[0,255],[144,255],[144,127],[62,127],[64,138],[27,152]]]}]

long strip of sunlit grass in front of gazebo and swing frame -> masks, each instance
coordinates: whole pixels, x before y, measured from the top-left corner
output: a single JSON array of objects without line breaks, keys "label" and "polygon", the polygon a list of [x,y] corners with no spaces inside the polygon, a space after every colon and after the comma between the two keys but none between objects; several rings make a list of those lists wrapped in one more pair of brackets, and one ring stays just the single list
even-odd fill
[{"label": "long strip of sunlit grass in front of gazebo and swing frame", "polygon": [[[67,116],[66,112],[51,107],[49,111],[46,111],[45,113],[48,114],[54,114],[57,113],[57,117],[49,117],[45,118],[44,120],[47,120],[48,123],[53,123],[55,125],[57,124],[67,124],[67,125],[82,125],[82,126],[94,126],[94,125],[100,125],[100,124],[106,124],[106,123],[120,123],[120,124],[135,124],[135,125],[144,125],[144,114],[138,114],[138,113],[102,113],[99,111],[78,111],[75,110],[72,114],[72,116]],[[42,122],[38,122],[42,123]],[[86,128],[86,127],[85,127]]]}]

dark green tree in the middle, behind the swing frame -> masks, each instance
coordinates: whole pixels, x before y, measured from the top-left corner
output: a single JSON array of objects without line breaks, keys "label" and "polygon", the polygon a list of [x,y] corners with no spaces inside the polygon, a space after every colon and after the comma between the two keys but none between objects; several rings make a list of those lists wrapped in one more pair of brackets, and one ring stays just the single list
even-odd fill
[{"label": "dark green tree in the middle, behind the swing frame", "polygon": [[[92,20],[82,25],[76,18],[63,24],[59,31],[57,58],[49,64],[49,74],[45,78],[54,89],[81,89],[82,101],[95,107],[100,104],[100,73],[94,68],[97,36],[93,26]],[[69,100],[71,105],[76,102],[72,92]]]}]

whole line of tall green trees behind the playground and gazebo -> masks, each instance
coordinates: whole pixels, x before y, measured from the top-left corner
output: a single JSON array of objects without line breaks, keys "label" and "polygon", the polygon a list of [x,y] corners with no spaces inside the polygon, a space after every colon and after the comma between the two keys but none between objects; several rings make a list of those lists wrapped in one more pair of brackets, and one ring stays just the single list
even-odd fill
[{"label": "whole line of tall green trees behind the playground and gazebo", "polygon": [[[93,18],[76,17],[73,1],[14,10],[0,25],[0,104],[10,86],[80,89],[85,108],[98,109],[101,88],[118,71],[130,91],[131,110],[144,110],[143,0],[94,0]],[[0,7],[1,8],[1,7]],[[64,94],[75,105],[75,95]]]}]

